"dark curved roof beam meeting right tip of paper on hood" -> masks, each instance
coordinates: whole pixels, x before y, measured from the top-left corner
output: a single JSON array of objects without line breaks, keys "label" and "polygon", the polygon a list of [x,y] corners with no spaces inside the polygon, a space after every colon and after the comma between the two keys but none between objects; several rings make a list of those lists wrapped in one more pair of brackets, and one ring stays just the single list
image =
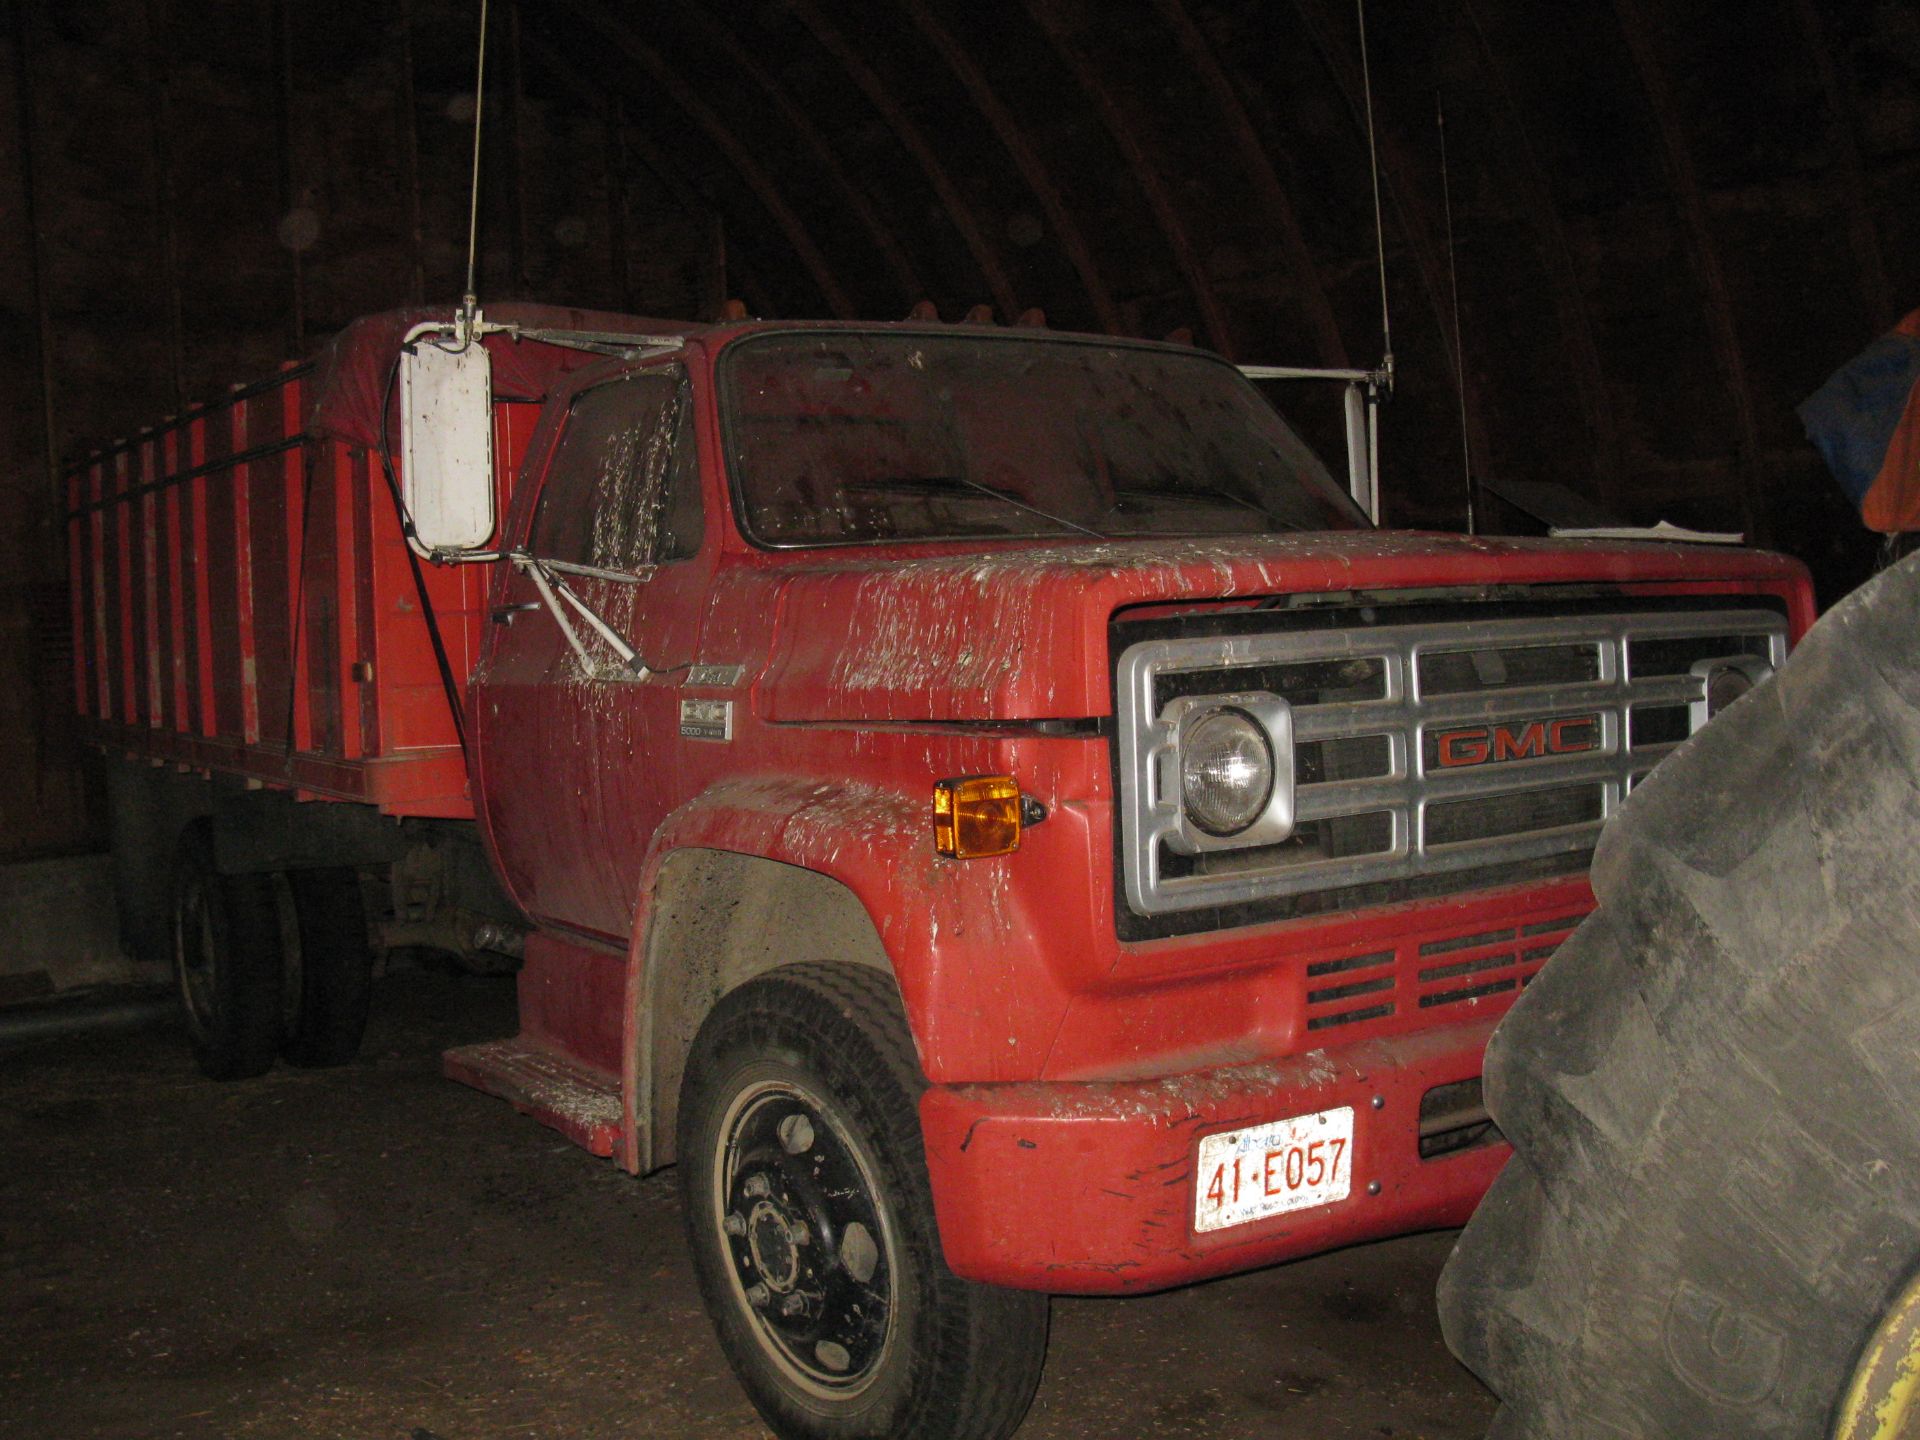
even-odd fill
[{"label": "dark curved roof beam meeting right tip of paper on hood", "polygon": [[1740,332],[1734,328],[1734,298],[1726,288],[1726,271],[1720,269],[1720,248],[1713,240],[1707,223],[1707,196],[1699,188],[1699,171],[1693,169],[1693,156],[1686,144],[1686,131],[1680,125],[1680,108],[1674,104],[1672,84],[1667,79],[1667,65],[1661,63],[1659,48],[1647,31],[1645,15],[1636,0],[1613,0],[1613,13],[1626,36],[1634,69],[1640,75],[1640,90],[1653,111],[1653,125],[1661,136],[1661,154],[1667,161],[1667,186],[1672,190],[1674,205],[1680,211],[1680,228],[1686,236],[1688,261],[1693,278],[1699,280],[1707,309],[1707,334],[1713,342],[1713,355],[1718,363],[1720,384],[1726,399],[1734,407],[1734,430],[1740,445],[1740,511],[1747,540],[1755,538],[1759,518],[1759,455],[1761,426],[1753,409],[1753,382],[1747,376],[1747,361],[1740,349]]}]

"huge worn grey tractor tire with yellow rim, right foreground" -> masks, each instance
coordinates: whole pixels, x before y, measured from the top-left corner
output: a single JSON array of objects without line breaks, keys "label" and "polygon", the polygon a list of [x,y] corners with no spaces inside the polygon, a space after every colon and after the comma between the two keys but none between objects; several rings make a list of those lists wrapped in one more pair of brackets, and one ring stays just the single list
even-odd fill
[{"label": "huge worn grey tractor tire with yellow rim, right foreground", "polygon": [[1601,837],[1440,1279],[1517,1440],[1920,1436],[1920,559]]}]

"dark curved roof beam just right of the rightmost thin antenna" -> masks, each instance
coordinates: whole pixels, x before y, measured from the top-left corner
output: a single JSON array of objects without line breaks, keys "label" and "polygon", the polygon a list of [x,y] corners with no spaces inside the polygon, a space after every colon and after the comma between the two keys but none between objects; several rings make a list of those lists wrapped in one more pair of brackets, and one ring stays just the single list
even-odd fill
[{"label": "dark curved roof beam just right of the rightmost thin antenna", "polygon": [[1546,167],[1534,150],[1526,131],[1526,121],[1507,84],[1507,71],[1500,63],[1500,52],[1488,44],[1486,25],[1480,21],[1478,0],[1465,0],[1461,13],[1467,19],[1467,33],[1478,48],[1480,73],[1496,106],[1500,123],[1500,150],[1511,163],[1511,175],[1521,190],[1521,209],[1534,230],[1534,248],[1546,263],[1548,278],[1553,284],[1553,309],[1559,330],[1567,342],[1567,357],[1572,361],[1574,394],[1580,399],[1580,415],[1594,436],[1594,480],[1605,501],[1617,501],[1620,474],[1615,465],[1619,451],[1619,419],[1613,411],[1613,397],[1607,394],[1607,378],[1599,359],[1599,340],[1594,334],[1594,311],[1586,303],[1580,286],[1580,269],[1572,259],[1572,242],[1567,238],[1567,223],[1561,219],[1559,204],[1553,200],[1553,186],[1548,182]]}]

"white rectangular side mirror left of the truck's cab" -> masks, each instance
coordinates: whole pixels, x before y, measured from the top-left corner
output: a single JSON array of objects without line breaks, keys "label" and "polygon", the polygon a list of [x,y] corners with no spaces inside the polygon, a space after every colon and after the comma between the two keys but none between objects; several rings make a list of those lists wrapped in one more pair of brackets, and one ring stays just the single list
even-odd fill
[{"label": "white rectangular side mirror left of the truck's cab", "polygon": [[409,334],[399,359],[399,493],[420,551],[480,549],[493,538],[493,363],[486,346],[449,349]]}]

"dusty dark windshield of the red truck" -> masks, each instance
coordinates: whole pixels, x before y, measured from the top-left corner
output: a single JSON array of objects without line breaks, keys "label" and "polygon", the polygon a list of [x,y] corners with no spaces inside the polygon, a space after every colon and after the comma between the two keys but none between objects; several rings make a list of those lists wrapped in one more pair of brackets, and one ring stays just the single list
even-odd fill
[{"label": "dusty dark windshield of the red truck", "polygon": [[1260,392],[1198,353],[766,334],[726,349],[720,403],[762,545],[1367,526]]}]

